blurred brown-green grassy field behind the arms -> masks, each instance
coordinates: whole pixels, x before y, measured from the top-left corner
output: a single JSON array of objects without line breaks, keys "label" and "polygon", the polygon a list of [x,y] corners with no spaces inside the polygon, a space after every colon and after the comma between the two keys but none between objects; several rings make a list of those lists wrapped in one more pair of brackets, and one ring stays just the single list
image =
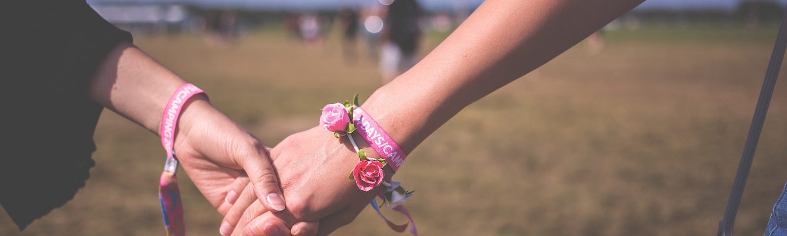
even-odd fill
[{"label": "blurred brown-green grassy field behind the arms", "polygon": [[[610,31],[595,54],[580,43],[467,107],[409,156],[396,178],[417,190],[408,209],[419,232],[715,234],[775,32]],[[427,35],[423,53],[444,37]],[[345,62],[336,36],[323,47],[281,31],[245,35],[231,46],[190,35],[135,41],[270,146],[315,126],[324,104],[355,93],[368,98],[382,84],[375,61]],[[738,235],[763,234],[787,180],[787,78],[780,77]],[[0,235],[164,234],[157,137],[104,112],[94,139],[98,164],[74,200],[23,233],[0,213]],[[221,216],[185,176],[190,235],[217,235]],[[387,229],[371,208],[335,234],[404,235]]]}]

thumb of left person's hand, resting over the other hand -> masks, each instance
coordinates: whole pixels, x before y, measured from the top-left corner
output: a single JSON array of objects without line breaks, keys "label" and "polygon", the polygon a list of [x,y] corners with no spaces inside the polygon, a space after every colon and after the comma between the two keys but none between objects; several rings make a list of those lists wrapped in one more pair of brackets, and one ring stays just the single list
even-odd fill
[{"label": "thumb of left person's hand, resting over the other hand", "polygon": [[284,197],[279,188],[279,178],[273,168],[272,161],[268,156],[269,148],[261,142],[253,146],[253,151],[244,157],[238,157],[238,164],[249,175],[254,193],[260,199],[260,203],[272,212],[284,210]]}]

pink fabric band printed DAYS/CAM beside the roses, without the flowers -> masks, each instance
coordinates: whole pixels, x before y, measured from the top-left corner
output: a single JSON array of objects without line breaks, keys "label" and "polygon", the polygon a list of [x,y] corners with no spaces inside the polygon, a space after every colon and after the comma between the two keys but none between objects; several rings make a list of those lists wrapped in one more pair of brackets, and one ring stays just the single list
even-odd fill
[{"label": "pink fabric band printed DAYS/CAM beside the roses, without the flowers", "polygon": [[364,137],[369,146],[375,149],[382,159],[386,160],[393,172],[399,170],[399,166],[405,162],[407,154],[396,142],[393,142],[393,138],[383,131],[375,120],[371,119],[364,109],[357,106],[353,109],[353,125],[357,128],[358,135]]}]

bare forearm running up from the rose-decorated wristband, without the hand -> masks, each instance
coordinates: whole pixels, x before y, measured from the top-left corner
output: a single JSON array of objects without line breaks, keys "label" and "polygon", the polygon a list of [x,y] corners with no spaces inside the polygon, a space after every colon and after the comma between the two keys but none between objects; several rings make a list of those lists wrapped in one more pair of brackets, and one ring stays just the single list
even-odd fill
[{"label": "bare forearm running up from the rose-decorated wristband, without the hand", "polygon": [[484,2],[416,66],[364,103],[410,153],[465,106],[544,65],[641,1]]}]

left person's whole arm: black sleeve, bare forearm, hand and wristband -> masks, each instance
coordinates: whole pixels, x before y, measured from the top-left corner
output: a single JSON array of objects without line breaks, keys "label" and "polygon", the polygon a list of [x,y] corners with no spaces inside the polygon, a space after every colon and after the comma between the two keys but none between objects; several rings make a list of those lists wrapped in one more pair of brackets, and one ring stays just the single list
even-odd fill
[{"label": "left person's whole arm: black sleeve, bare forearm, hand and wristband", "polygon": [[268,209],[286,207],[268,147],[135,48],[129,33],[87,2],[22,1],[3,9],[13,11],[3,21],[14,23],[4,28],[13,36],[0,44],[9,58],[2,69],[8,78],[2,130],[13,138],[2,146],[0,204],[20,230],[85,186],[104,107],[161,135],[164,151],[140,159],[165,163],[159,186],[167,234],[186,234],[177,164],[222,214],[238,197],[233,184],[250,183]]}]

